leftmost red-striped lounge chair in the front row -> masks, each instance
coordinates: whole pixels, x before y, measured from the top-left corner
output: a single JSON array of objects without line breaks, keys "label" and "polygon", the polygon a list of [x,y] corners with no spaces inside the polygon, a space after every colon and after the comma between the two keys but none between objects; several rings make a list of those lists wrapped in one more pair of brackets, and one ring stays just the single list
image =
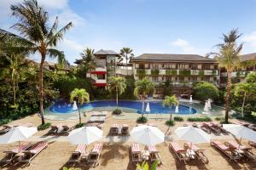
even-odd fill
[{"label": "leftmost red-striped lounge chair in the front row", "polygon": [[18,154],[19,152],[22,152],[24,150],[27,150],[31,146],[32,146],[32,143],[25,143],[25,144],[20,144],[20,146],[18,148],[16,148],[15,150],[3,151],[5,153],[5,156],[0,161],[0,164],[7,165],[7,164],[11,163],[14,160],[16,154]]}]

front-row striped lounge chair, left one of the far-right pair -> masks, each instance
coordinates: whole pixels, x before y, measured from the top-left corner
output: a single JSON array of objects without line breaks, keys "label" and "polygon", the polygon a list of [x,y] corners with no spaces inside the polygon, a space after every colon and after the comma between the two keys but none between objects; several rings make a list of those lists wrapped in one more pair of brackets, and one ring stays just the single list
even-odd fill
[{"label": "front-row striped lounge chair, left one of the far-right pair", "polygon": [[222,151],[224,155],[230,158],[230,161],[237,161],[241,159],[241,155],[236,152],[236,148],[232,146],[226,146],[218,140],[211,141],[211,145],[216,149]]}]

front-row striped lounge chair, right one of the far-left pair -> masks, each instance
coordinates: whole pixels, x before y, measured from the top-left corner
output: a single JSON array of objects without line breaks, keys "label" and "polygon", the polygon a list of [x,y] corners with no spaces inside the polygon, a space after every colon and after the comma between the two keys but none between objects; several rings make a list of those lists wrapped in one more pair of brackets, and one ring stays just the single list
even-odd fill
[{"label": "front-row striped lounge chair, right one of the far-left pair", "polygon": [[46,142],[38,142],[37,144],[34,144],[29,150],[22,151],[22,153],[24,153],[25,155],[22,156],[22,159],[19,162],[20,163],[28,163],[28,164],[30,164],[32,159],[34,157],[38,156],[38,154],[42,150],[47,148],[47,146],[48,146],[48,143],[46,143]]}]

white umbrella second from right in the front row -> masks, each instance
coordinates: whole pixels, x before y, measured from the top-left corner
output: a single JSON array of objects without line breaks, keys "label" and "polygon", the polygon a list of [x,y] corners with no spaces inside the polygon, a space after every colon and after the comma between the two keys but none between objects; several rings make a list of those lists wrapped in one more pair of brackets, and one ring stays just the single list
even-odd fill
[{"label": "white umbrella second from right in the front row", "polygon": [[195,144],[209,143],[211,139],[206,132],[196,127],[177,127],[175,133],[178,138]]}]

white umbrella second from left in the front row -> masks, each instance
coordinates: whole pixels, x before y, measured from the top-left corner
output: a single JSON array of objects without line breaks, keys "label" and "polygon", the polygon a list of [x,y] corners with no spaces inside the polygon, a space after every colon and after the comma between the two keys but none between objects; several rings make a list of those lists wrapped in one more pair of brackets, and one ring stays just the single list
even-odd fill
[{"label": "white umbrella second from left in the front row", "polygon": [[102,138],[103,131],[98,127],[80,127],[67,136],[72,144],[90,144]]}]

